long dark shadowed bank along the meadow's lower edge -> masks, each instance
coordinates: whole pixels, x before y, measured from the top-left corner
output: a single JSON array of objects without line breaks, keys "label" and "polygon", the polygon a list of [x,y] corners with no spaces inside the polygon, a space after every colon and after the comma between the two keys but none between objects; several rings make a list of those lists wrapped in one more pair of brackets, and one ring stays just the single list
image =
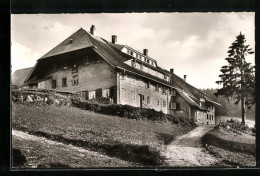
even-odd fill
[{"label": "long dark shadowed bank along the meadow's lower edge", "polygon": [[28,132],[31,135],[45,137],[49,140],[61,142],[64,144],[71,144],[92,151],[102,152],[108,156],[117,157],[130,162],[140,163],[144,166],[159,166],[163,164],[159,151],[152,151],[147,145],[130,145],[121,143],[109,145],[79,139],[69,139],[61,135],[49,134],[43,131],[30,131],[24,127],[19,128],[16,126],[16,129]]}]

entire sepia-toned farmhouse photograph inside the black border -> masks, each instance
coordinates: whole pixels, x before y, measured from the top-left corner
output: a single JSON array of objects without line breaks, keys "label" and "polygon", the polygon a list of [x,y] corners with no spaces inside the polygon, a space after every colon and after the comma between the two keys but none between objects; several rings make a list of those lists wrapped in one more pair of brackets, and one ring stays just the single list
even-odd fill
[{"label": "entire sepia-toned farmhouse photograph inside the black border", "polygon": [[11,169],[256,166],[255,13],[11,14]]}]

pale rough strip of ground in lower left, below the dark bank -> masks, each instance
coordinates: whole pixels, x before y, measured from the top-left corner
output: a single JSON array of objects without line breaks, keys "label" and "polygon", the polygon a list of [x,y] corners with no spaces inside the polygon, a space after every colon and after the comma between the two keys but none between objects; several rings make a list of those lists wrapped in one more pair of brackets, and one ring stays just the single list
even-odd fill
[{"label": "pale rough strip of ground in lower left, below the dark bank", "polygon": [[133,163],[89,151],[73,145],[37,137],[22,131],[12,130],[13,148],[26,155],[27,166],[59,162],[70,167],[131,167]]}]

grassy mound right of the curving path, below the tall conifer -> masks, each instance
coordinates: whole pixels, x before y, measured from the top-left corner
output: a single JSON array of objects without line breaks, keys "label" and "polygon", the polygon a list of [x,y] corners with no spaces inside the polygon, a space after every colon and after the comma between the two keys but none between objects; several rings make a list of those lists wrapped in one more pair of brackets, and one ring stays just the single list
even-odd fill
[{"label": "grassy mound right of the curving path, below the tall conifer", "polygon": [[256,165],[254,136],[218,128],[203,136],[202,142],[213,155],[222,158],[227,166],[252,167]]}]

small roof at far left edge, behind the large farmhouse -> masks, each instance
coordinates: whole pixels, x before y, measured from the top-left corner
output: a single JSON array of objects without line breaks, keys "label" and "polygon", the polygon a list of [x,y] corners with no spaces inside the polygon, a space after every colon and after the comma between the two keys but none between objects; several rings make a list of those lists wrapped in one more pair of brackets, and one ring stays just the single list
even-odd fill
[{"label": "small roof at far left edge, behind the large farmhouse", "polygon": [[24,68],[20,70],[16,70],[12,74],[12,85],[21,86],[23,85],[25,79],[27,78],[28,74],[32,70],[33,67]]}]

